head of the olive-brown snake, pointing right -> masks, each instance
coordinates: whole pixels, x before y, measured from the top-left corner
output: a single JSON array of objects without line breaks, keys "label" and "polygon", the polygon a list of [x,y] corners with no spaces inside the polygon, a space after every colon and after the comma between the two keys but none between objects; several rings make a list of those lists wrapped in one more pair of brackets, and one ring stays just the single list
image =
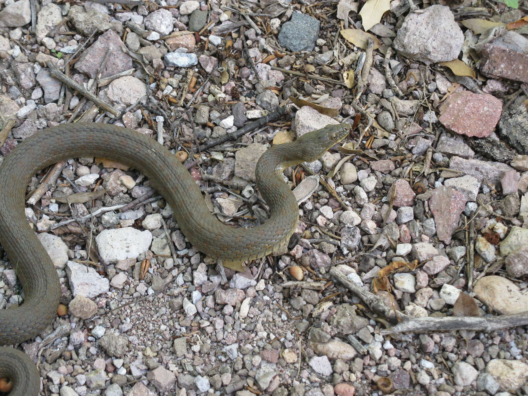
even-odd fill
[{"label": "head of the olive-brown snake, pointing right", "polygon": [[296,143],[300,143],[304,161],[313,162],[322,157],[330,147],[348,136],[351,129],[350,124],[327,125],[299,137]]}]

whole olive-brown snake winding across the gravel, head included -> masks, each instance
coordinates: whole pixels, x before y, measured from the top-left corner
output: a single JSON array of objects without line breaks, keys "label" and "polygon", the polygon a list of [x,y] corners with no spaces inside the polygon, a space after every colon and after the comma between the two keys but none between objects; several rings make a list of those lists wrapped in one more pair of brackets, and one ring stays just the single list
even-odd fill
[{"label": "whole olive-brown snake winding across the gravel, head included", "polygon": [[[342,140],[348,124],[329,125],[275,145],[257,164],[257,185],[271,209],[270,219],[251,229],[234,229],[216,220],[187,169],[154,139],[137,131],[95,122],[63,124],[24,140],[0,166],[0,244],[7,252],[25,294],[22,306],[0,310],[0,345],[21,343],[43,331],[56,315],[60,285],[48,253],[24,214],[30,178],[40,169],[72,158],[98,156],[143,172],[171,205],[193,247],[225,261],[254,260],[287,243],[298,221],[294,195],[280,172],[320,158]],[[10,396],[39,393],[40,376],[27,355],[0,347],[0,378],[14,382]]]}]

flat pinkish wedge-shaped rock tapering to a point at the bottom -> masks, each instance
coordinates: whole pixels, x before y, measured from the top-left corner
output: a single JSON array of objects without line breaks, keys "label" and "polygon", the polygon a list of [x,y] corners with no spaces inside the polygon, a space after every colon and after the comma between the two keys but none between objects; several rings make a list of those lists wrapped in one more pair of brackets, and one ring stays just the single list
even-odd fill
[{"label": "flat pinkish wedge-shaped rock tapering to a point at the bottom", "polygon": [[451,187],[440,186],[432,191],[429,209],[435,216],[439,240],[451,242],[451,235],[458,228],[460,213],[464,210],[466,202],[466,196]]}]

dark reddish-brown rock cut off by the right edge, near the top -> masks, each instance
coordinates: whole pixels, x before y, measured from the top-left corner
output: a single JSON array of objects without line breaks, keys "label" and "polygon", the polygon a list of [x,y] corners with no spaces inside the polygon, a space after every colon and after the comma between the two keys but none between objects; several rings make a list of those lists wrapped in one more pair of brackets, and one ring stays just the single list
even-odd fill
[{"label": "dark reddish-brown rock cut off by the right edge, near the top", "polygon": [[486,44],[480,56],[484,76],[528,82],[528,54]]}]

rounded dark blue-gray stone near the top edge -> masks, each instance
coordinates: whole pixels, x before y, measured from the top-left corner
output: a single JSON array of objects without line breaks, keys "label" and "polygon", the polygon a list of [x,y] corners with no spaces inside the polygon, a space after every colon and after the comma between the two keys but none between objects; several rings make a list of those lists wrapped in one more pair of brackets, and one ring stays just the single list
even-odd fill
[{"label": "rounded dark blue-gray stone near the top edge", "polygon": [[319,25],[319,21],[309,15],[294,13],[282,25],[279,44],[291,52],[312,51],[319,35]]}]

